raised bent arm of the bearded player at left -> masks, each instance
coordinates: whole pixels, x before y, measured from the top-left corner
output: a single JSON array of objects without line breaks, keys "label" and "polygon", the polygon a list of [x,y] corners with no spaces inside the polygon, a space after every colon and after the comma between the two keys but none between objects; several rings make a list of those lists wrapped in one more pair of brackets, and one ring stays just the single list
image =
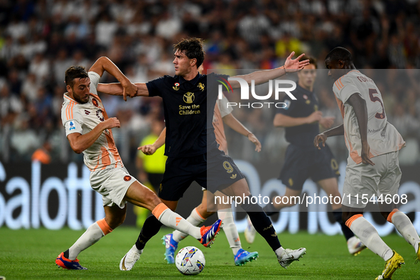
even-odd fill
[{"label": "raised bent arm of the bearded player at left", "polygon": [[137,92],[136,86],[131,84],[129,79],[127,79],[127,77],[121,72],[121,70],[119,70],[117,65],[115,65],[111,60],[109,60],[109,58],[105,56],[98,58],[98,60],[96,60],[96,62],[92,65],[89,71],[95,72],[101,77],[104,74],[104,71],[107,71],[109,72],[109,74],[117,78],[117,80],[121,82],[121,85],[122,85],[122,96],[124,97],[124,101],[126,101],[127,95],[129,95],[130,97],[133,97],[136,95],[136,92]]}]

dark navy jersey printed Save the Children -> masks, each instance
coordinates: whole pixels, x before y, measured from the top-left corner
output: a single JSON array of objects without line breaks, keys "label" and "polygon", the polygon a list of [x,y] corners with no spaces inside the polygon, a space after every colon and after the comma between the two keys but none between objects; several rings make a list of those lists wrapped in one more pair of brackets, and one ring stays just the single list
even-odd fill
[{"label": "dark navy jersey printed Save the Children", "polygon": [[219,77],[227,80],[228,76],[199,73],[188,81],[177,75],[166,75],[146,83],[149,96],[163,99],[166,156],[197,156],[205,154],[208,149],[217,149],[212,115]]}]

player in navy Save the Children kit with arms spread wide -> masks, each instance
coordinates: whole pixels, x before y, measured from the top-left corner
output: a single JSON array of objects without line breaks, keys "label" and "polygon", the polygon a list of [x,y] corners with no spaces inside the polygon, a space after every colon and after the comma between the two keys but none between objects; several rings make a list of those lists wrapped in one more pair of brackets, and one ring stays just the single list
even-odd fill
[{"label": "player in navy Save the Children kit with arms spread wide", "polygon": [[[138,87],[136,96],[160,96],[163,99],[166,120],[165,154],[168,159],[159,198],[168,208],[176,209],[178,200],[193,181],[212,193],[221,191],[225,195],[249,198],[242,202],[242,209],[249,215],[257,232],[276,253],[279,264],[286,268],[306,254],[306,249],[281,247],[271,220],[258,204],[251,202],[252,195],[241,171],[230,156],[217,149],[212,126],[217,89],[211,87],[216,85],[216,80],[220,77],[227,80],[227,76],[215,73],[201,75],[198,72],[198,67],[204,60],[203,40],[200,38],[183,39],[174,45],[174,50],[174,76],[166,75],[135,84]],[[259,85],[308,65],[308,60],[299,61],[303,55],[292,60],[293,55],[294,52],[281,68],[256,71],[240,77],[248,85],[251,85],[252,80]],[[233,88],[240,87],[237,81],[231,81],[230,85]],[[118,84],[101,86],[98,90],[114,95],[122,94]],[[154,216],[147,218],[136,244],[122,259],[124,267],[131,269],[134,266],[146,242],[158,233],[161,225]]]}]

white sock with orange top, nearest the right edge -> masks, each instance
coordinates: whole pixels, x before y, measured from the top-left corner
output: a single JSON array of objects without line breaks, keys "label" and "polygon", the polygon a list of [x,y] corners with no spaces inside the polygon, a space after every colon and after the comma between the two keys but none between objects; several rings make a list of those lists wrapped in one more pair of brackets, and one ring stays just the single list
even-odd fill
[{"label": "white sock with orange top, nearest the right edge", "polygon": [[388,217],[388,222],[394,224],[398,232],[406,239],[406,242],[409,242],[417,252],[419,249],[420,237],[417,235],[416,229],[411,223],[410,218],[400,211],[392,213],[389,214],[391,217]]}]

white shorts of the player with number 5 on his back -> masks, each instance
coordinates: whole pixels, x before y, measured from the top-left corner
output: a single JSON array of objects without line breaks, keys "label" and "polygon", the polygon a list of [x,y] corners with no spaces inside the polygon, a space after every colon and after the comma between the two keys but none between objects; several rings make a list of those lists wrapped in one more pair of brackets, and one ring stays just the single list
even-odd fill
[{"label": "white shorts of the player with number 5 on his back", "polygon": [[[343,186],[343,205],[351,208],[365,208],[372,195],[398,194],[401,169],[398,151],[370,158],[375,166],[348,162]],[[349,198],[350,195],[350,198]]]}]

